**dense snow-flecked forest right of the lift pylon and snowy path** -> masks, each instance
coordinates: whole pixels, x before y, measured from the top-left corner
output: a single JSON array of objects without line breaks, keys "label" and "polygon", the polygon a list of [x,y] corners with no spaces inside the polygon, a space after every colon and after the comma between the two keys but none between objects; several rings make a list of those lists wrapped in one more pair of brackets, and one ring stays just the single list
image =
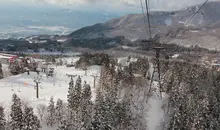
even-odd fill
[{"label": "dense snow-flecked forest right of the lift pylon and snowy path", "polygon": [[161,61],[162,91],[168,95],[167,130],[217,130],[220,73],[185,61]]}]

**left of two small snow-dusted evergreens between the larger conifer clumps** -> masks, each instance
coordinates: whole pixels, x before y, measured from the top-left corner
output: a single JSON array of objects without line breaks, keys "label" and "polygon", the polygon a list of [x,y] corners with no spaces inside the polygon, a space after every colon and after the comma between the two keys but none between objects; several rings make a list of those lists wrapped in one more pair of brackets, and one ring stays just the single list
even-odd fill
[{"label": "left of two small snow-dusted evergreens between the larger conifer clumps", "polygon": [[47,108],[47,120],[46,123],[48,126],[53,126],[56,123],[56,117],[55,117],[55,106],[53,97],[50,98],[50,104]]}]

